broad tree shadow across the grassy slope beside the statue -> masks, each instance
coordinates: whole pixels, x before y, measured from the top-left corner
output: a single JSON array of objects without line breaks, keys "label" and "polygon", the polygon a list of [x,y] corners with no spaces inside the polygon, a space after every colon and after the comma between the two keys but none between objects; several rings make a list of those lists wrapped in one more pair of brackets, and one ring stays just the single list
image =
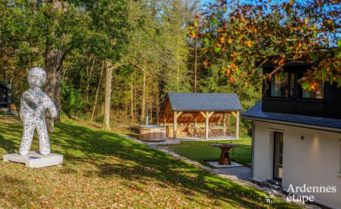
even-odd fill
[{"label": "broad tree shadow across the grassy slope beside the statue", "polygon": [[[21,124],[0,125],[0,129],[7,133],[0,133],[1,147],[10,152],[18,149]],[[9,133],[16,133],[14,137],[7,137]],[[37,137],[35,136],[37,143]],[[151,149],[143,144],[137,144],[117,134],[86,127],[55,124],[55,132],[50,134],[52,151],[64,155],[70,168],[64,168],[61,173],[79,172],[75,165],[91,164],[96,169],[83,171],[84,175],[99,176],[107,179],[113,175],[121,176],[129,181],[157,181],[161,187],[172,187],[187,195],[191,201],[199,193],[207,198],[221,200],[231,205],[246,208],[267,208],[260,193],[254,189],[243,187],[231,181],[221,179],[205,170],[176,160],[165,153]],[[211,206],[205,202],[198,202],[202,207]],[[278,202],[278,207],[287,207]]]}]

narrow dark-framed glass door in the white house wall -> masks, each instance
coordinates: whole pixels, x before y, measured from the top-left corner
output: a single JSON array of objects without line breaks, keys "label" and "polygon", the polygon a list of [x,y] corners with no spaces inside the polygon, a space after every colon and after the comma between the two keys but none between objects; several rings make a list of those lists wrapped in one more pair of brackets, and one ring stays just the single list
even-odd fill
[{"label": "narrow dark-framed glass door in the white house wall", "polygon": [[274,171],[273,179],[282,181],[283,178],[283,133],[274,133]]}]

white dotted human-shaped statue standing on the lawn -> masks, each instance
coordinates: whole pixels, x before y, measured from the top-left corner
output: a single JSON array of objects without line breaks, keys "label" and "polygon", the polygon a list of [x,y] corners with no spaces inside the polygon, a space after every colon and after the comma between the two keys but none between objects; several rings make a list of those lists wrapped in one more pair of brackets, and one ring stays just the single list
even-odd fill
[{"label": "white dotted human-shaped statue standing on the lawn", "polygon": [[45,110],[51,116],[57,116],[56,107],[52,99],[40,87],[46,81],[46,72],[43,68],[34,67],[30,70],[27,79],[30,88],[21,97],[20,118],[24,125],[23,139],[19,154],[27,155],[30,152],[34,131],[37,129],[40,154],[50,154],[50,141],[45,122]]}]

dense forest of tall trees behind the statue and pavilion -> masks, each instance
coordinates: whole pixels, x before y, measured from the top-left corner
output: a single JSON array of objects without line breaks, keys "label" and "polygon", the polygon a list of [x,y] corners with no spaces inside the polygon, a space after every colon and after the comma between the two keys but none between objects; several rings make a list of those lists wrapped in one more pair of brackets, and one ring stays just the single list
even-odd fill
[{"label": "dense forest of tall trees behind the statue and pavilion", "polygon": [[[261,99],[261,82],[230,82],[221,70],[228,53],[208,55],[214,62],[204,68],[206,46],[188,37],[205,9],[195,0],[2,1],[0,80],[11,85],[19,108],[27,73],[40,66],[48,73],[43,90],[60,114],[104,128],[108,109],[111,124],[144,123],[147,103],[155,124],[167,92],[237,93],[247,110]],[[252,66],[245,59],[244,67]],[[244,134],[251,130],[241,125]]]}]

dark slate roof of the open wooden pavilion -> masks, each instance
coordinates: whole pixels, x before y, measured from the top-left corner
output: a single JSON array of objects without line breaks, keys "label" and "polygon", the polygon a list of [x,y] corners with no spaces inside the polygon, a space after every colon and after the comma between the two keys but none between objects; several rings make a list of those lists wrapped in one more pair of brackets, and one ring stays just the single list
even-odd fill
[{"label": "dark slate roof of the open wooden pavilion", "polygon": [[173,111],[242,111],[235,93],[168,93]]}]

